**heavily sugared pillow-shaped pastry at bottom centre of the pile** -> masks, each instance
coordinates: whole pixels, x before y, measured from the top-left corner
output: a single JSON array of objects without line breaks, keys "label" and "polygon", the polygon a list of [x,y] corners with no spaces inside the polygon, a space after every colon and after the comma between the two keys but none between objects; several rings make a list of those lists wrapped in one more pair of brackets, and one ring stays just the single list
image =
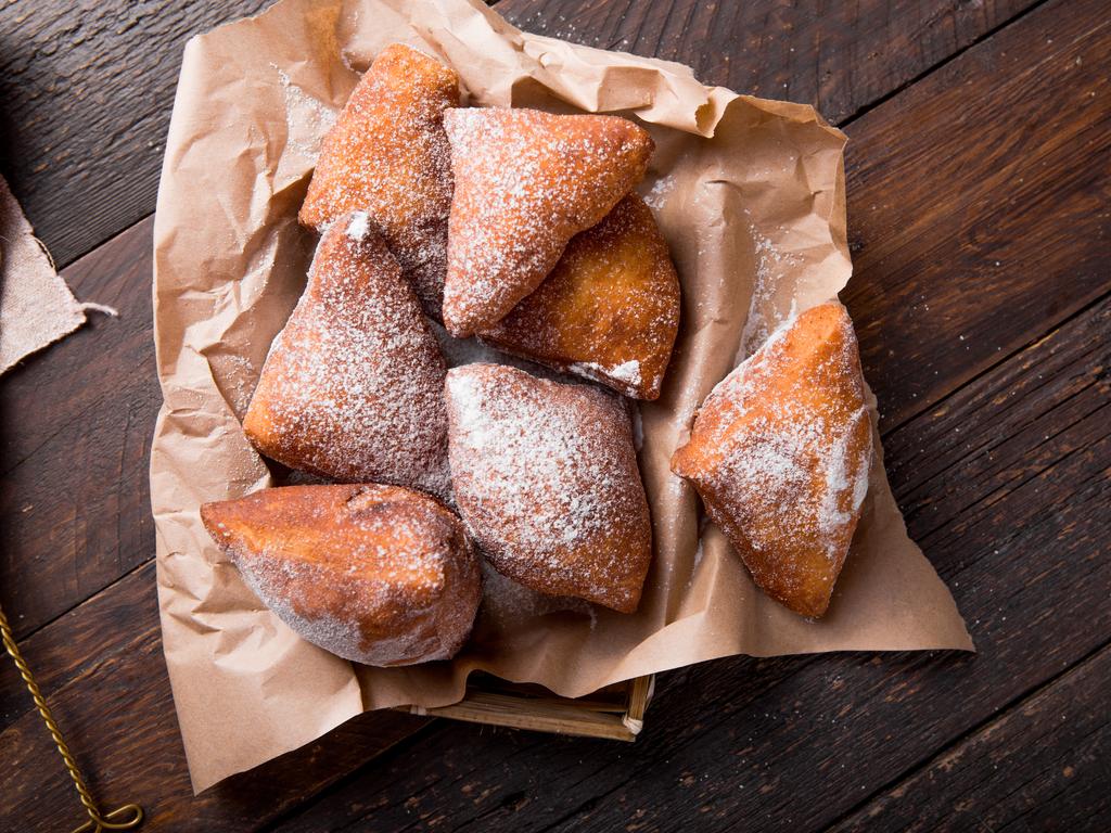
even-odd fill
[{"label": "heavily sugared pillow-shaped pastry at bottom centre of the pile", "polygon": [[629,412],[500,364],[448,372],[456,501],[498,572],[630,613],[652,556]]}]

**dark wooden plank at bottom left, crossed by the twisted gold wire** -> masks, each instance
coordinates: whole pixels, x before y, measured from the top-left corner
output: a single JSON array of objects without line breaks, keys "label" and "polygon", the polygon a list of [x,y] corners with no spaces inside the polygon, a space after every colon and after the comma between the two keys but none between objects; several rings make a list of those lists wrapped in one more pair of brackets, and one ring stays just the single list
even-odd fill
[{"label": "dark wooden plank at bottom left, crossed by the twisted gold wire", "polygon": [[[22,650],[104,807],[149,831],[239,833],[280,817],[428,720],[374,712],[193,797],[162,659],[149,563],[27,640]],[[13,666],[0,662],[0,830],[70,830],[80,805]]]}]

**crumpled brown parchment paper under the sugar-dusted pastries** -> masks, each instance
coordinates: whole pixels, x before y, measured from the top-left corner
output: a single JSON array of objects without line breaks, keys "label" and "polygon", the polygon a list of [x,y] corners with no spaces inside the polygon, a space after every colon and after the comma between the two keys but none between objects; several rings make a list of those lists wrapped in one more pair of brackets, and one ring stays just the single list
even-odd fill
[{"label": "crumpled brown parchment paper under the sugar-dusted pastries", "polygon": [[[304,285],[314,241],[296,215],[320,139],[392,41],[450,63],[472,104],[639,119],[658,144],[642,191],[671,245],[683,309],[664,394],[641,405],[655,555],[640,610],[538,600],[494,580],[454,661],[381,670],[353,668],[278,621],[209,540],[198,508],[273,482],[239,418]],[[675,63],[526,34],[467,0],[282,0],[191,40],[154,223],[166,402],[151,500],[166,659],[194,787],[367,709],[457,702],[476,669],[580,696],[738,653],[970,649],[948,590],[907,536],[881,454],[820,622],[755,590],[668,470],[710,389],[778,322],[849,280],[844,141],[810,107],[704,87]]]}]

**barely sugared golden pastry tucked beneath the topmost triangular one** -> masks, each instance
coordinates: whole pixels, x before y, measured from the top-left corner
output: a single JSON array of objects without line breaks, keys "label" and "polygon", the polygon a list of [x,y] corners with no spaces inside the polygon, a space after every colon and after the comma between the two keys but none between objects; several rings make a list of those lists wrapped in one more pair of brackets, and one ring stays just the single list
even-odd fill
[{"label": "barely sugared golden pastry tucked beneath the topmost triangular one", "polygon": [[635,399],[657,399],[679,329],[679,278],[644,201],[571,238],[552,273],[483,341]]}]

